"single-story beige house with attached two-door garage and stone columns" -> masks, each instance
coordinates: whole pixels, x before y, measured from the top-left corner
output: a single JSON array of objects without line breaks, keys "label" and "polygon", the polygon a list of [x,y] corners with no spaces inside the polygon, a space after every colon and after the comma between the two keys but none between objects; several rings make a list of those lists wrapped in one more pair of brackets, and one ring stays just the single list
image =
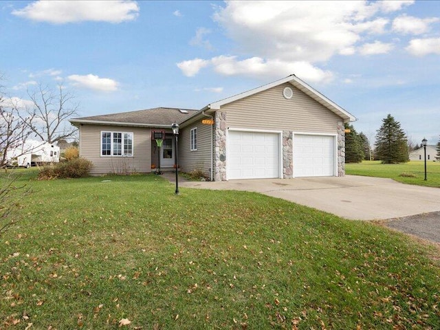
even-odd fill
[{"label": "single-story beige house with attached two-door garage and stone columns", "polygon": [[[179,168],[214,181],[343,176],[344,123],[355,117],[295,75],[199,110],[155,108],[71,119],[93,175]],[[164,131],[157,147],[155,131]]]}]

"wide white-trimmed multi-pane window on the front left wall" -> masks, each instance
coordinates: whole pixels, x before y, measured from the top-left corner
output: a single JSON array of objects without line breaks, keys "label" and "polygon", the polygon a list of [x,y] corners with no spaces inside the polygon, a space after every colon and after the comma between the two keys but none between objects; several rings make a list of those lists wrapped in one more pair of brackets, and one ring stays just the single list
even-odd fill
[{"label": "wide white-trimmed multi-pane window on the front left wall", "polygon": [[102,131],[101,156],[133,156],[133,133]]}]

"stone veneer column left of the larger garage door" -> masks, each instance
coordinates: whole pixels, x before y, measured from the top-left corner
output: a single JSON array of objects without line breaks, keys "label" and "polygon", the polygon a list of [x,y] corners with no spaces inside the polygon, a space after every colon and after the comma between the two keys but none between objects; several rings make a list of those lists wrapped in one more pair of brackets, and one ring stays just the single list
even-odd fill
[{"label": "stone veneer column left of the larger garage door", "polygon": [[215,112],[214,133],[214,181],[226,179],[226,113]]}]

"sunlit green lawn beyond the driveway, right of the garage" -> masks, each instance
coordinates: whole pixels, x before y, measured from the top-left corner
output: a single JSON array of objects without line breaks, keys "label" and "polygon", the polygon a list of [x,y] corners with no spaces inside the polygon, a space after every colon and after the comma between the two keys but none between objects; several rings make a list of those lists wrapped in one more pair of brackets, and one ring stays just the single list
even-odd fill
[{"label": "sunlit green lawn beyond the driveway, right of the garage", "polygon": [[426,163],[426,181],[424,180],[424,162],[382,164],[380,161],[363,161],[359,164],[346,164],[345,173],[348,175],[365,175],[367,177],[389,177],[404,184],[440,188],[440,162]]}]

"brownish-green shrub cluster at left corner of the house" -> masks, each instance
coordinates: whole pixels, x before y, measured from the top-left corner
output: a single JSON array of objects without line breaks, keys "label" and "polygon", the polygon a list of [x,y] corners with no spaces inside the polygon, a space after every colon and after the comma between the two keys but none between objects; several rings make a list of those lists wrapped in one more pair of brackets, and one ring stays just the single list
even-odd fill
[{"label": "brownish-green shrub cluster at left corner of the house", "polygon": [[74,158],[69,162],[58,163],[47,166],[39,173],[39,179],[63,179],[67,177],[87,177],[89,176],[92,163],[84,158]]}]

